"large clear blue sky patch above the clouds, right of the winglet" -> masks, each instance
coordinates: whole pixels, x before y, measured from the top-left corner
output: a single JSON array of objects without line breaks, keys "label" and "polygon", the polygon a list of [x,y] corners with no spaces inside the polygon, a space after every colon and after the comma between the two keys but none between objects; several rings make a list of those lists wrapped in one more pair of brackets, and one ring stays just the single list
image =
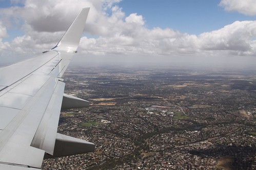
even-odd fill
[{"label": "large clear blue sky patch above the clouds, right of the winglet", "polygon": [[255,20],[238,12],[226,12],[219,0],[123,0],[126,14],[143,15],[149,28],[172,28],[183,33],[201,34],[229,25],[237,20]]}]

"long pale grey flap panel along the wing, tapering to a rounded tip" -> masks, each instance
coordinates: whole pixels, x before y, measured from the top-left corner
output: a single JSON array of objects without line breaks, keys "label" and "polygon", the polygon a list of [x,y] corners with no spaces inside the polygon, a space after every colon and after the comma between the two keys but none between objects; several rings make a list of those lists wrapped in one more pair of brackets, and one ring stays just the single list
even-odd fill
[{"label": "long pale grey flap panel along the wing, tapering to a rounded tip", "polygon": [[49,78],[0,133],[0,162],[41,167],[45,151],[30,144],[56,83],[54,77]]}]

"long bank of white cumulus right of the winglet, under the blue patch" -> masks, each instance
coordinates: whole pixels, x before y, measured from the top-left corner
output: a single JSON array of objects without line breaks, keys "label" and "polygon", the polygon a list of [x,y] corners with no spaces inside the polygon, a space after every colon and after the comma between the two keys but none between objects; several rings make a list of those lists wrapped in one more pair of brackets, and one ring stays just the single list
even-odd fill
[{"label": "long bank of white cumulus right of the winglet, under the blue patch", "polygon": [[[171,29],[147,29],[130,25],[111,37],[82,38],[83,52],[99,55],[179,55],[225,54],[253,55],[256,52],[256,21],[236,21],[220,30],[202,33],[199,36],[180,33]],[[218,53],[220,54],[220,53]]]}]

